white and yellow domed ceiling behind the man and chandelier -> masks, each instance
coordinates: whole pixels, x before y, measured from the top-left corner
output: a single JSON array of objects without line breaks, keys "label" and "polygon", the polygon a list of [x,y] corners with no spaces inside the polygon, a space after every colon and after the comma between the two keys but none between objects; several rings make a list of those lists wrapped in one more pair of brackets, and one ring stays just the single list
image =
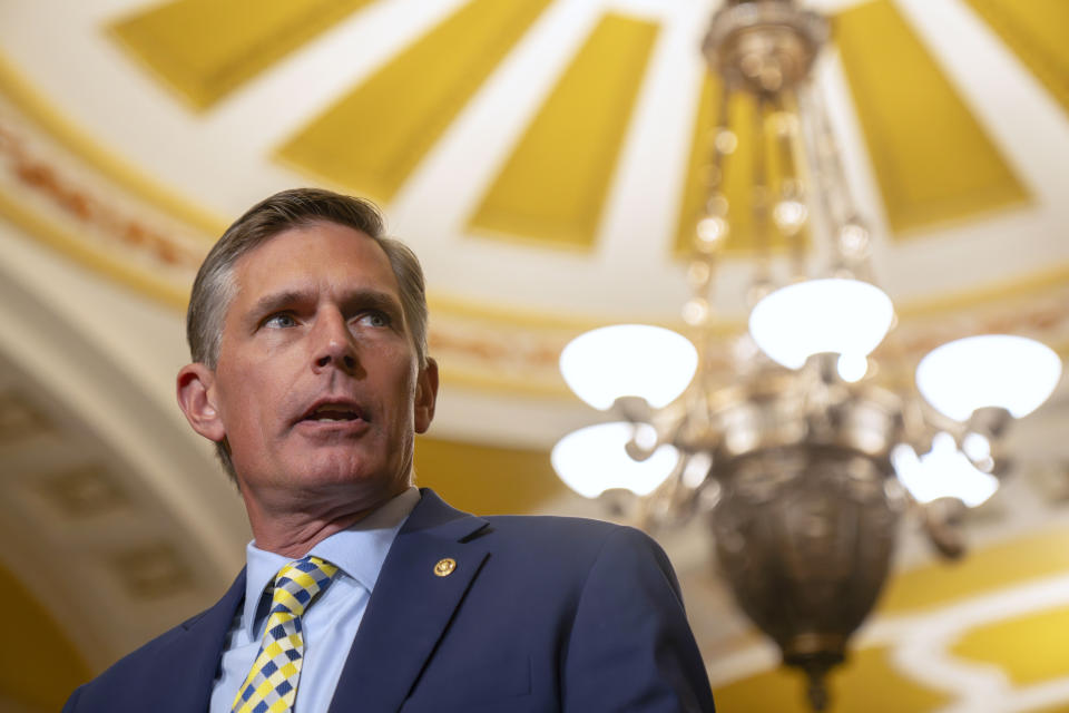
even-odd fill
[{"label": "white and yellow domed ceiling behind the man and chandelier", "polygon": [[[806,4],[833,21],[816,89],[872,227],[877,281],[896,304],[902,373],[933,345],[979,332],[1036,336],[1065,359],[1069,6]],[[38,515],[48,506],[27,515],[11,505],[16,519],[3,530],[9,541],[35,527],[50,534],[21,555],[7,555],[4,566],[19,569],[40,547],[57,586],[72,589],[65,572],[81,572],[101,553],[114,555],[120,533],[166,549],[165,530],[174,536],[199,528],[198,539],[168,549],[163,559],[184,572],[183,563],[198,553],[226,548],[213,555],[213,576],[218,587],[225,584],[246,533],[207,449],[197,450],[196,439],[183,434],[170,406],[174,373],[185,361],[182,310],[196,266],[225,226],[266,195],[296,185],[375,199],[390,232],[424,263],[443,393],[431,437],[419,446],[421,480],[477,511],[598,515],[565,494],[548,466],[557,438],[601,418],[569,394],[557,358],[569,339],[601,324],[683,329],[685,250],[703,201],[720,96],[698,47],[717,6],[0,3],[0,310],[18,328],[0,336],[8,373],[18,374],[0,383],[0,395],[46,413],[59,424],[51,432],[67,432],[67,423],[95,443],[87,448],[99,450],[98,461],[112,463],[102,470],[114,473],[102,476],[102,486],[90,478],[90,486],[79,487],[109,491],[114,480],[128,504],[109,510],[119,518],[112,525],[90,522],[96,539],[87,541],[96,550],[71,549],[82,533],[77,528],[89,520],[47,526],[52,520]],[[739,146],[745,150],[745,135]],[[741,196],[744,179],[737,173],[728,192]],[[733,204],[743,201],[733,197]],[[717,329],[725,335],[742,330],[755,250],[745,223],[735,228],[718,276]],[[824,255],[826,247],[811,245],[814,264]],[[725,364],[728,349],[725,339]],[[109,397],[100,384],[108,380],[128,382],[130,393],[115,397],[125,410],[101,406]],[[1020,485],[974,522],[978,541],[994,548],[978,561],[1008,568],[1007,578],[985,579],[977,565],[945,584],[942,570],[925,569],[925,557],[908,546],[903,566],[919,568],[903,576],[928,594],[912,600],[899,580],[892,585],[899,589],[887,595],[890,623],[875,625],[856,666],[844,674],[842,710],[883,710],[871,700],[850,707],[846,702],[857,700],[851,696],[862,695],[851,693],[855,688],[899,692],[885,696],[889,705],[898,701],[886,709],[895,711],[1024,711],[1069,701],[1069,670],[1047,666],[1053,653],[1032,652],[1017,660],[1023,664],[1006,653],[1017,651],[1014,636],[1066,623],[1066,609],[1057,607],[1069,605],[1069,597],[1050,594],[1069,573],[1053,544],[1066,519],[1057,501],[1069,495],[1059,480],[1069,462],[1069,446],[1059,437],[1066,413],[1063,387],[1037,414],[1039,426],[1020,424]],[[168,453],[196,455],[150,463],[124,429],[169,439],[159,446]],[[59,440],[81,442],[77,438]],[[3,470],[21,473],[2,487],[32,481],[26,487],[40,495],[39,484],[53,476],[61,481],[76,466],[94,470],[84,467],[96,461],[73,457],[35,466],[47,452],[39,439],[0,440]],[[196,469],[203,473],[190,478]],[[26,502],[11,497],[8,502]],[[143,497],[166,512],[124,529],[134,521],[122,520],[124,511],[145,520],[148,510],[137,507]],[[167,518],[174,519],[169,530]],[[58,527],[75,529],[58,537]],[[763,672],[775,662],[732,618],[737,615],[712,584],[695,537],[677,539],[671,547],[680,553],[688,606],[726,710],[793,710],[800,697],[794,687],[777,699],[783,703],[746,707],[772,701],[779,684]],[[1010,549],[1000,554],[998,547]],[[1021,557],[1031,565],[1021,565]],[[166,582],[174,572],[155,574]],[[97,595],[112,586],[104,575],[86,582]],[[1047,594],[1027,589],[1036,582],[1049,585],[1040,587]],[[95,670],[160,622],[192,612],[193,602],[209,600],[218,587],[203,596],[149,595],[159,616],[146,614],[131,624],[141,628],[121,636],[109,634],[106,622],[70,624],[85,613],[72,594],[30,596],[52,612]],[[1026,589],[1032,594],[1019,593]],[[999,593],[1009,598],[998,599]],[[128,595],[140,596],[136,587]],[[984,602],[1010,608],[1004,617],[961,614],[973,611],[969,606],[981,611]],[[958,614],[947,614],[951,609]],[[942,638],[925,639],[934,613],[954,624]],[[999,646],[1003,652],[991,654]],[[107,655],[89,653],[99,649]],[[925,673],[921,661],[935,663]],[[28,710],[49,707],[12,691],[0,695]],[[989,707],[969,707],[981,701],[978,691],[987,692]]]}]

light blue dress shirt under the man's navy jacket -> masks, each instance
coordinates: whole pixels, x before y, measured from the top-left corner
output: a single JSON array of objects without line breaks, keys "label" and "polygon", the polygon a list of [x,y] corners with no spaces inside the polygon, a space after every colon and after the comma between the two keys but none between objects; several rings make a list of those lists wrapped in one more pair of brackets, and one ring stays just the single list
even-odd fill
[{"label": "light blue dress shirt under the man's navy jacket", "polygon": [[[310,551],[337,565],[339,574],[302,617],[304,663],[294,711],[321,713],[331,705],[345,658],[379,579],[393,538],[420,501],[412,487],[346,530],[336,533]],[[234,617],[224,643],[223,662],[212,690],[210,713],[229,713],[237,690],[253,666],[267,622],[269,602],[263,596],[275,575],[292,558],[256,547],[245,548],[245,605]]]}]

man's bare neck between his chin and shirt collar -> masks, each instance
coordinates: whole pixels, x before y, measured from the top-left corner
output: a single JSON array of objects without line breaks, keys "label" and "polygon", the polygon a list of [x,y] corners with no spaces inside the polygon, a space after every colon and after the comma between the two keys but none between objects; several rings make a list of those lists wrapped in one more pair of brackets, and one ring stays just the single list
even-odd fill
[{"label": "man's bare neck between his chin and shirt collar", "polygon": [[293,507],[294,504],[282,508],[267,507],[262,498],[255,498],[244,489],[242,496],[256,547],[300,559],[324,539],[352,527],[406,488],[408,484],[375,498],[359,498],[341,504],[335,499],[327,507],[316,507],[312,502],[297,507]]}]

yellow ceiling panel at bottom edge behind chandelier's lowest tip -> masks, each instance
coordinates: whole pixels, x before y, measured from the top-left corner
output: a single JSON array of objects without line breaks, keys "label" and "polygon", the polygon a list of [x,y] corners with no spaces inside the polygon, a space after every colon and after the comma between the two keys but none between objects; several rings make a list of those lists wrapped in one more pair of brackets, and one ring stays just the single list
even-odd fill
[{"label": "yellow ceiling panel at bottom edge behind chandelier's lowest tip", "polygon": [[[887,661],[886,648],[851,652],[846,665],[828,676],[831,705],[826,713],[928,713],[950,702],[901,676]],[[714,688],[716,707],[724,711],[808,713],[805,676],[776,668]]]}]

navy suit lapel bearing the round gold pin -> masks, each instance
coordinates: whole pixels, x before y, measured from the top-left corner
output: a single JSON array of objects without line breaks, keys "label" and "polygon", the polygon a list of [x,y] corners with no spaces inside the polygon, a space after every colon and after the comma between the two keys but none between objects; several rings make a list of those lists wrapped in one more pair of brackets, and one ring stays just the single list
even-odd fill
[{"label": "navy suit lapel bearing the round gold pin", "polygon": [[[463,541],[487,521],[454,510],[431,490],[398,533],[342,670],[331,713],[396,711],[479,574],[489,549]],[[455,568],[435,575],[435,565]]]}]

